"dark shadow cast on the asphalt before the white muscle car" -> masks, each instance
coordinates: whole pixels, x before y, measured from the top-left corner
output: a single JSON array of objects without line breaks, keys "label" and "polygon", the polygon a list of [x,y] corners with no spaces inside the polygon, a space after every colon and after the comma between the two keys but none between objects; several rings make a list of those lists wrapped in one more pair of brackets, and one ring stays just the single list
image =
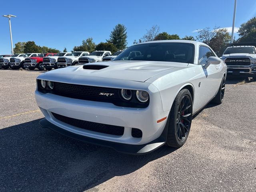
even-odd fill
[{"label": "dark shadow cast on the asphalt before the white muscle car", "polygon": [[142,156],[121,154],[41,128],[39,120],[0,129],[2,191],[84,191],[176,150],[162,146]]}]

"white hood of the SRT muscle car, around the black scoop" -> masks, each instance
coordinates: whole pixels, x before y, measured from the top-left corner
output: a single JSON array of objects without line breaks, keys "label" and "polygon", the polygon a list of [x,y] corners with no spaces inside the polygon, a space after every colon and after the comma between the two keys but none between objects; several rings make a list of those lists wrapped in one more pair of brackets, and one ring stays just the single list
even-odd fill
[{"label": "white hood of the SRT muscle car, around the black scoop", "polygon": [[[87,65],[90,66],[108,66],[100,70],[84,69]],[[81,66],[70,66],[47,72],[45,75],[67,78],[112,78],[119,80],[131,80],[145,82],[152,76],[160,73],[175,72],[187,68],[187,63],[176,62],[156,62],[156,61],[110,61],[97,62]],[[52,74],[52,75],[51,75]],[[46,76],[45,76],[46,77]]]}]

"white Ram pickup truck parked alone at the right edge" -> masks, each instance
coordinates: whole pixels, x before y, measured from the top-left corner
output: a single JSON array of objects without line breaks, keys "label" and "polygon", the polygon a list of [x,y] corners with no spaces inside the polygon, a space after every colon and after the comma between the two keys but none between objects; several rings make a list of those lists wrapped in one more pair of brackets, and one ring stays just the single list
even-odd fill
[{"label": "white Ram pickup truck parked alone at the right edge", "polygon": [[220,58],[228,66],[228,75],[256,77],[255,46],[230,46]]}]

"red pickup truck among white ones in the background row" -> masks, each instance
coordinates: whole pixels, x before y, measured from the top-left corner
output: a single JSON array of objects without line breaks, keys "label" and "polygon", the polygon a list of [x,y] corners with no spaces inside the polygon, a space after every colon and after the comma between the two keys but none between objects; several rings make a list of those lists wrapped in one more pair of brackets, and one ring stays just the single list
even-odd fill
[{"label": "red pickup truck among white ones in the background row", "polygon": [[56,55],[56,53],[42,53],[42,54],[39,54],[37,57],[26,58],[24,66],[29,70],[34,70],[35,68],[38,68],[38,70],[42,71],[44,70],[43,58],[54,56],[54,55]]}]

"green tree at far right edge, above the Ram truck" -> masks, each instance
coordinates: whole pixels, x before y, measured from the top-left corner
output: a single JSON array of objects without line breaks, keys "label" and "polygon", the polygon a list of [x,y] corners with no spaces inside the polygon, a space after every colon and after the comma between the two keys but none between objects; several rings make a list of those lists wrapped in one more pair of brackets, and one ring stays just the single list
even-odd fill
[{"label": "green tree at far right edge, above the Ram truck", "polygon": [[238,42],[256,42],[256,17],[243,23],[238,30]]}]

